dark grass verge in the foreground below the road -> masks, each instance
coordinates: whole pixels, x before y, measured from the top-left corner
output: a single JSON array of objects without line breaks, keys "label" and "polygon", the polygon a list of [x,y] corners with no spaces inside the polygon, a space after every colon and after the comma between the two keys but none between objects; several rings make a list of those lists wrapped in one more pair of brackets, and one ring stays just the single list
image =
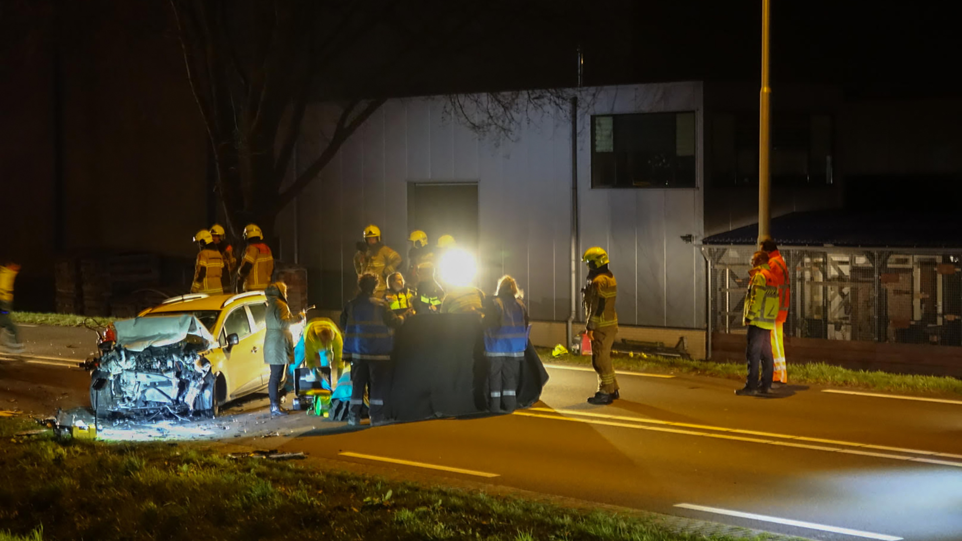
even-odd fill
[{"label": "dark grass verge in the foreground below the road", "polygon": [[0,540],[733,539],[675,534],[626,515],[232,460],[190,444],[13,435],[26,427],[0,419],[0,524],[8,528]]}]

